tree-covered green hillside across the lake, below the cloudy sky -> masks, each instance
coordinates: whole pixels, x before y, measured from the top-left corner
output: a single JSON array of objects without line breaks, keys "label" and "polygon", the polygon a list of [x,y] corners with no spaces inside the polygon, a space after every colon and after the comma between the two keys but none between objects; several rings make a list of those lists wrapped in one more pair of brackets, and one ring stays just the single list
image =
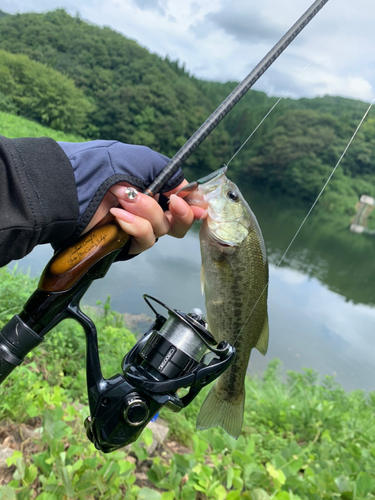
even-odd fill
[{"label": "tree-covered green hillside across the lake, below the cloudy sky", "polygon": [[[151,54],[120,33],[64,10],[1,17],[0,49],[0,65],[8,68],[0,71],[0,110],[87,138],[145,144],[168,156],[236,86],[194,78],[178,62]],[[57,81],[53,68],[64,75],[60,78],[66,79],[65,87],[74,82],[71,95],[81,103],[75,106],[80,117],[71,116],[70,123],[63,123],[43,111],[40,116],[31,114],[26,95],[31,99],[40,83],[20,78],[20,56],[12,59],[9,53],[27,56],[28,60],[22,59],[24,67],[31,68],[31,62],[48,66],[39,67],[40,79]],[[249,91],[187,161],[190,176],[228,162],[275,102],[275,97]],[[283,99],[231,163],[231,175],[311,202],[366,108],[364,102],[340,97]],[[325,208],[349,215],[359,195],[375,194],[374,132],[370,114],[329,185],[322,200]]]}]

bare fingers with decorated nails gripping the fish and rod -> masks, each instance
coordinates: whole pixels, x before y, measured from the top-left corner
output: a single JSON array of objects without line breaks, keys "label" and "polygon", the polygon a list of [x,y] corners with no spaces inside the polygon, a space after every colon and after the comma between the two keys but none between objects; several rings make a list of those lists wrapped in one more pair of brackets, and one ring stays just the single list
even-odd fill
[{"label": "bare fingers with decorated nails gripping the fish and rod", "polygon": [[[170,200],[167,212],[163,212],[156,199],[134,189],[136,196],[129,199],[127,188],[130,185],[116,184],[109,189],[85,232],[103,221],[107,222],[108,214],[111,214],[123,231],[133,236],[129,255],[136,255],[151,248],[156,239],[165,234],[182,238],[194,220],[199,219],[204,212],[199,207],[190,207],[182,198],[174,195],[186,184],[187,181],[184,180],[173,190],[164,193]],[[118,205],[121,205],[121,208]]]}]

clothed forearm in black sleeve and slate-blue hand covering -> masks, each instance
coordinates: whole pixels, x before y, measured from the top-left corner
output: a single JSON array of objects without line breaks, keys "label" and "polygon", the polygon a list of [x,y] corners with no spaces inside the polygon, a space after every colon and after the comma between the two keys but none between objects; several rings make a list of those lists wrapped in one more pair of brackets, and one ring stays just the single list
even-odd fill
[{"label": "clothed forearm in black sleeve and slate-blue hand covering", "polygon": [[[118,141],[0,136],[0,266],[39,244],[71,245],[101,206],[108,213],[118,205],[117,199],[107,203],[112,186],[125,182],[143,190],[167,163],[147,147]],[[183,178],[178,171],[164,190],[173,192]]]}]

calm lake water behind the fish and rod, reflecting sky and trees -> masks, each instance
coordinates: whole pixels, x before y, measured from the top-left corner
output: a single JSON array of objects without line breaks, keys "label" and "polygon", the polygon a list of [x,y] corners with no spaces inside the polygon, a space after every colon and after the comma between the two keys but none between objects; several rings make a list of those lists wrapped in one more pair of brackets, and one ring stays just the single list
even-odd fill
[{"label": "calm lake water behind the fish and rod, reflecting sky and trees", "polygon": [[[375,390],[374,237],[350,233],[349,218],[343,223],[345,218],[338,222],[313,212],[277,267],[307,210],[242,184],[241,190],[258,218],[270,260],[270,346],[265,357],[252,352],[250,373],[261,374],[277,357],[284,370],[313,368],[334,375],[348,390]],[[38,275],[51,255],[49,246],[38,247],[19,268]],[[137,258],[114,264],[82,302],[95,305],[111,295],[119,312],[152,315],[144,293],[171,308],[204,311],[198,227],[182,240],[166,236]]]}]

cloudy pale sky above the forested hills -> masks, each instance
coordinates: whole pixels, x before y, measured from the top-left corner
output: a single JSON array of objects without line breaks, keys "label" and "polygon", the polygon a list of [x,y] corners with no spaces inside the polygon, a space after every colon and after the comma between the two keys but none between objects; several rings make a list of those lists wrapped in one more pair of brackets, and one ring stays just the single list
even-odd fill
[{"label": "cloudy pale sky above the forested hills", "polygon": [[[241,81],[312,0],[0,0],[0,9],[65,8],[109,26],[205,80]],[[375,4],[329,0],[254,86],[293,98],[375,98]]]}]

